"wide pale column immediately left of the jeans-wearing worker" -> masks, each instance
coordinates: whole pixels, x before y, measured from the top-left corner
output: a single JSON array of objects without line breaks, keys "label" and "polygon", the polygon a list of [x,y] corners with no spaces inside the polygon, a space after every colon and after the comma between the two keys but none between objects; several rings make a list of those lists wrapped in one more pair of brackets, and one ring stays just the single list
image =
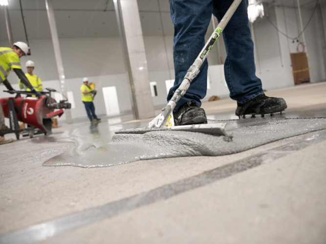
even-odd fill
[{"label": "wide pale column immediately left of the jeans-wearing worker", "polygon": [[113,1],[130,82],[133,117],[136,120],[154,117],[154,105],[137,0]]}]

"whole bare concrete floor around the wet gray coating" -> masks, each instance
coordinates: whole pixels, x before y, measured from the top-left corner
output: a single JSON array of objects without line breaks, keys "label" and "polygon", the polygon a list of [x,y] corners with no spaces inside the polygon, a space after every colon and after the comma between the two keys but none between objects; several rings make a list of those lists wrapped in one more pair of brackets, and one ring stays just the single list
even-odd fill
[{"label": "whole bare concrete floor around the wet gray coating", "polygon": [[[282,118],[326,118],[325,94],[326,82],[266,92],[286,100]],[[237,119],[230,99],[202,106],[211,120]],[[150,121],[130,118],[104,118],[96,133],[85,121],[6,135],[15,141],[0,145],[0,243],[326,243],[326,130],[226,156],[42,166],[77,137],[109,142]]]}]

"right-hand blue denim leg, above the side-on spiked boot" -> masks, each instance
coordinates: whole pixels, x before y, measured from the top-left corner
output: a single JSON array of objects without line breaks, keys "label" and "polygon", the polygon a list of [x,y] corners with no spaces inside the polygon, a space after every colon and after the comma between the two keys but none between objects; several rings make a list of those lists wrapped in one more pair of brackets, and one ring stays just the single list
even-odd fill
[{"label": "right-hand blue denim leg, above the side-on spiked boot", "polygon": [[[213,14],[221,20],[233,0],[214,0]],[[242,0],[223,31],[227,58],[225,80],[230,98],[245,103],[263,93],[261,80],[256,76],[254,44],[247,14],[248,0]]]}]

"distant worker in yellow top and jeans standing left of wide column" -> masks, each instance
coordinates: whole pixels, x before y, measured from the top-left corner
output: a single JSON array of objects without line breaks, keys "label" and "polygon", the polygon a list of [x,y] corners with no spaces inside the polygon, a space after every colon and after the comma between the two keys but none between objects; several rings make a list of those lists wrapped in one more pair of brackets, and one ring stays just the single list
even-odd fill
[{"label": "distant worker in yellow top and jeans standing left of wide column", "polygon": [[85,105],[86,113],[90,122],[99,122],[101,119],[98,119],[95,114],[95,106],[93,103],[94,94],[96,94],[95,90],[92,90],[88,85],[88,78],[85,77],[83,79],[83,85],[80,87],[80,91],[82,92],[82,102]]}]

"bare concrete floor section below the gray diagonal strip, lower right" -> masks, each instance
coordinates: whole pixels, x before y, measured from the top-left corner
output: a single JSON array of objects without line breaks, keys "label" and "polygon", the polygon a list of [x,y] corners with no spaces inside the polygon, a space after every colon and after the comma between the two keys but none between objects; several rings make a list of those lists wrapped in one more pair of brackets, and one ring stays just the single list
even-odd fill
[{"label": "bare concrete floor section below the gray diagonal strip, lower right", "polygon": [[[326,167],[312,152],[324,151],[325,157],[325,146],[319,143],[44,243],[83,243],[90,234],[94,243],[325,243],[326,186],[320,183]],[[288,163],[293,157],[299,160]]]}]

